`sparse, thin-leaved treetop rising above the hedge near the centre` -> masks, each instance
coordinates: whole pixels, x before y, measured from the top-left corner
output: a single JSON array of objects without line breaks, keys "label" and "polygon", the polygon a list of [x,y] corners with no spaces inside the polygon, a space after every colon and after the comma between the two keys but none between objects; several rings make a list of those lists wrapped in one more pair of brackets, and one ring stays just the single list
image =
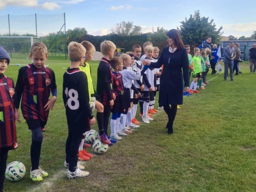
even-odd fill
[{"label": "sparse, thin-leaved treetop rising above the hedge near the centre", "polygon": [[141,27],[134,26],[132,21],[121,21],[111,29],[112,33],[117,35],[140,35]]}]

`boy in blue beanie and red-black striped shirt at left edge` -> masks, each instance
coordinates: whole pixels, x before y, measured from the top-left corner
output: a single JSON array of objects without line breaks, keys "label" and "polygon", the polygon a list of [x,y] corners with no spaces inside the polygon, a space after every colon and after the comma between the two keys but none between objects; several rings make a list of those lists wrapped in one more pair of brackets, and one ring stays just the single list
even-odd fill
[{"label": "boy in blue beanie and red-black striped shirt at left edge", "polygon": [[4,174],[8,151],[16,149],[17,136],[15,126],[15,111],[12,96],[14,94],[13,80],[4,75],[10,63],[8,53],[0,47],[0,191],[4,191]]}]

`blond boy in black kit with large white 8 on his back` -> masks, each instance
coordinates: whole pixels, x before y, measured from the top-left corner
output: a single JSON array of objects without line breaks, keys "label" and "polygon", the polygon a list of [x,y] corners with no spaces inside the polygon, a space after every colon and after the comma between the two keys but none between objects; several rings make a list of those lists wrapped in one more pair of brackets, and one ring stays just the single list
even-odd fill
[{"label": "blond boy in black kit with large white 8 on his back", "polygon": [[87,77],[83,71],[79,70],[79,66],[84,63],[85,52],[83,45],[76,42],[69,43],[68,57],[71,63],[63,75],[62,98],[68,123],[65,165],[68,165],[67,177],[69,179],[89,175],[89,172],[81,171],[77,167],[78,149],[83,133],[88,131],[89,123],[95,123],[89,103]]}]

